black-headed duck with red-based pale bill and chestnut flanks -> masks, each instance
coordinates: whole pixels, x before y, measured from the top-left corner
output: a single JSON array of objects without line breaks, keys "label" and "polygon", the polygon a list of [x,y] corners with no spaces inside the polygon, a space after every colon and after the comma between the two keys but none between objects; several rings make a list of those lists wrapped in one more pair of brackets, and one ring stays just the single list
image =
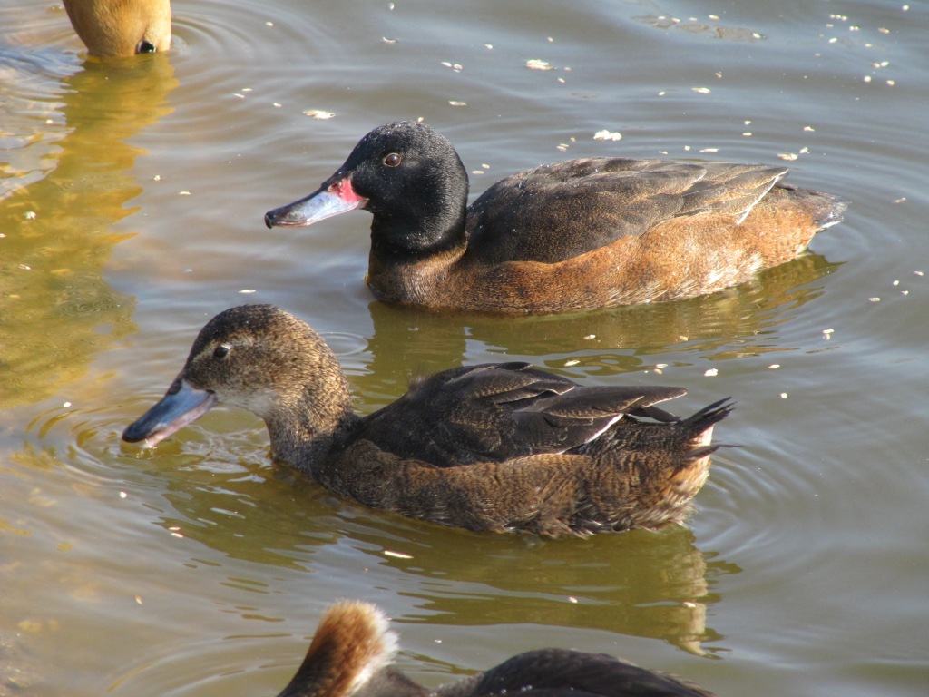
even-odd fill
[{"label": "black-headed duck with red-based pale bill and chestnut flanks", "polygon": [[588,158],[503,179],[467,206],[451,142],[382,125],[318,191],[268,227],[373,214],[367,283],[387,302],[551,313],[721,290],[800,254],[837,222],[835,196],[779,183],[766,164]]}]

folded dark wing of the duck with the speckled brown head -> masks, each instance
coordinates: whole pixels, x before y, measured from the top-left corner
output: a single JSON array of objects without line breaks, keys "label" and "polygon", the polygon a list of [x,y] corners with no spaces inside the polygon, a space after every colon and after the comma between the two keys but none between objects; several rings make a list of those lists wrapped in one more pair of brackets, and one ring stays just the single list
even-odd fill
[{"label": "folded dark wing of the duck with the speckled brown head", "polygon": [[625,414],[661,421],[654,406],[683,388],[581,387],[524,362],[454,368],[414,382],[398,401],[362,420],[353,441],[439,467],[569,452]]}]

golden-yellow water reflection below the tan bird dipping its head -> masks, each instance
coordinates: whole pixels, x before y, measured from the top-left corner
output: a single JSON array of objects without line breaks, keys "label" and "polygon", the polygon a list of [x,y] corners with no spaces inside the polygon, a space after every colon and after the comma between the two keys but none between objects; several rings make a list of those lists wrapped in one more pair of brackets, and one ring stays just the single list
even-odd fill
[{"label": "golden-yellow water reflection below the tan bird dipping its head", "polygon": [[91,59],[63,85],[68,130],[46,153],[54,163],[0,207],[0,408],[55,394],[135,329],[135,299],[103,268],[124,239],[112,224],[137,211],[126,203],[142,191],[129,170],[144,151],[125,141],[171,111],[177,80],[156,54]]}]

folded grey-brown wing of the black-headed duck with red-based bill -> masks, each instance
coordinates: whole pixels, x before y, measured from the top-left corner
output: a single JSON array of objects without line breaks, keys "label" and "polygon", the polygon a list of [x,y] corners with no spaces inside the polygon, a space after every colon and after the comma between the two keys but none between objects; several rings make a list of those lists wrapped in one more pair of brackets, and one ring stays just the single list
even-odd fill
[{"label": "folded grey-brown wing of the black-headed duck with red-based bill", "polygon": [[740,222],[787,167],[587,158],[504,178],[467,213],[466,259],[557,263],[642,235],[663,220],[729,213]]}]

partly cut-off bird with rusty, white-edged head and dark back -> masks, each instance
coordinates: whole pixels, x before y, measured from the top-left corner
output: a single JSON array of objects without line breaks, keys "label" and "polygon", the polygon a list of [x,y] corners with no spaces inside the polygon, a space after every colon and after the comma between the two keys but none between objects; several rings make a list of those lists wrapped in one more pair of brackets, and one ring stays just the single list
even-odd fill
[{"label": "partly cut-off bird with rusty, white-edged head and dark back", "polygon": [[322,615],[294,679],[278,697],[713,697],[693,683],[606,653],[527,651],[490,670],[427,690],[391,663],[397,635],[375,606],[336,603]]}]

